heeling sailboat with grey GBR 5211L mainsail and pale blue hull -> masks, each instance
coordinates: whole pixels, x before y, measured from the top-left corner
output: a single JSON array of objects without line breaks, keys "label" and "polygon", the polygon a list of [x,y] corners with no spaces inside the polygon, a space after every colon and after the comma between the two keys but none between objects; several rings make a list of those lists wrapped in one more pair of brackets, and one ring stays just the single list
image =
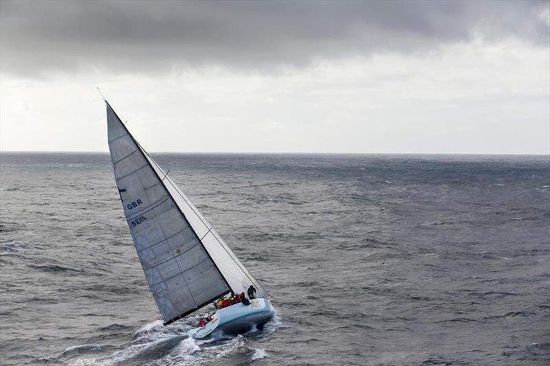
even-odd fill
[{"label": "heeling sailboat with grey GBR 5211L mainsail and pale blue hull", "polygon": [[124,216],[164,325],[216,301],[190,336],[261,328],[274,316],[263,286],[105,104]]}]

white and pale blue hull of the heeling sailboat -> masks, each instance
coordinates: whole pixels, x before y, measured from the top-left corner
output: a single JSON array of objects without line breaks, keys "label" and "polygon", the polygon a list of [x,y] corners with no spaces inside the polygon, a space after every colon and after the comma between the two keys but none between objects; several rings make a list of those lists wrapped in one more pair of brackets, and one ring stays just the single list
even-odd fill
[{"label": "white and pale blue hull of the heeling sailboat", "polygon": [[275,310],[268,299],[252,299],[249,306],[239,303],[218,310],[208,324],[192,330],[190,336],[201,339],[218,332],[224,334],[247,332],[256,325],[263,325],[274,314]]}]

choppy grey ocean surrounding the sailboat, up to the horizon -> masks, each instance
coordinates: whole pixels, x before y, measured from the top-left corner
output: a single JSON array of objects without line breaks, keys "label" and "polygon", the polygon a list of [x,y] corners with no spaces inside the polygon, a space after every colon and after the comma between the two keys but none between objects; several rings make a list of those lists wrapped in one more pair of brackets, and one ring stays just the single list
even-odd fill
[{"label": "choppy grey ocean surrounding the sailboat, up to the horizon", "polygon": [[274,297],[164,327],[109,155],[0,155],[1,365],[549,365],[550,158],[153,154]]}]

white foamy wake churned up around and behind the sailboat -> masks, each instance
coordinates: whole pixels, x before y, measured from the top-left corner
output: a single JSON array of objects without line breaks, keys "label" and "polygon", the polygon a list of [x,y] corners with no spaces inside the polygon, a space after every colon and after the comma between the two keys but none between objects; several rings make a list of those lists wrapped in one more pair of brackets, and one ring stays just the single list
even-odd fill
[{"label": "white foamy wake churned up around and behind the sailboat", "polygon": [[[75,366],[113,366],[113,365],[201,365],[203,363],[224,365],[248,365],[256,360],[269,357],[263,349],[256,349],[255,343],[261,343],[283,323],[275,315],[262,330],[252,329],[244,335],[218,335],[210,339],[193,339],[188,333],[195,328],[196,319],[184,319],[163,326],[162,321],[153,321],[137,330],[133,341],[122,350],[107,356],[98,356],[100,350],[111,350],[109,345],[94,347],[73,346],[65,350],[61,358],[64,363]],[[74,352],[79,350],[80,352]],[[86,352],[89,350],[89,353]],[[67,356],[73,358],[67,361]],[[78,358],[74,358],[74,357]],[[60,360],[61,361],[61,360]]]}]

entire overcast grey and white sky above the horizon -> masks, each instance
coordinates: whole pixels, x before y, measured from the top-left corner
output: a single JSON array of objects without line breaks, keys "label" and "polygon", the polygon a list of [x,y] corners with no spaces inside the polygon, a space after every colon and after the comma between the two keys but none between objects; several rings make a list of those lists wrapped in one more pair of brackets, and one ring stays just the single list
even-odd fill
[{"label": "entire overcast grey and white sky above the horizon", "polygon": [[0,1],[0,149],[550,154],[550,1]]}]

